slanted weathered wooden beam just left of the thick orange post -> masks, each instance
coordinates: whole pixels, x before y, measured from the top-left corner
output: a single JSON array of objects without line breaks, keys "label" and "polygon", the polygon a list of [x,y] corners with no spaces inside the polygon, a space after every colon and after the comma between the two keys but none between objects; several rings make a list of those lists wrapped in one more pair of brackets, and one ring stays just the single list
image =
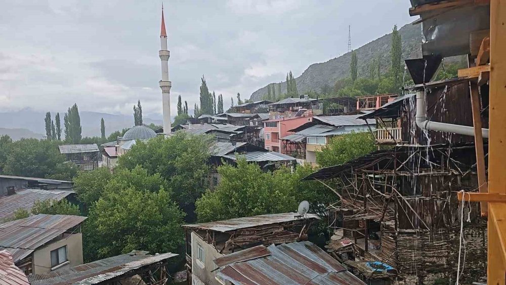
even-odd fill
[{"label": "slanted weathered wooden beam just left of the thick orange post", "polygon": [[[474,138],[475,138],[475,149],[476,149],[476,167],[478,169],[478,186],[480,193],[488,192],[487,174],[485,170],[485,153],[483,150],[483,135],[481,132],[481,108],[480,108],[480,94],[478,85],[476,83],[470,84],[471,93],[471,109],[473,111],[473,126],[474,126]],[[506,194],[505,194],[506,196]],[[482,217],[487,216],[488,208],[486,202],[481,202],[481,215]]]}]

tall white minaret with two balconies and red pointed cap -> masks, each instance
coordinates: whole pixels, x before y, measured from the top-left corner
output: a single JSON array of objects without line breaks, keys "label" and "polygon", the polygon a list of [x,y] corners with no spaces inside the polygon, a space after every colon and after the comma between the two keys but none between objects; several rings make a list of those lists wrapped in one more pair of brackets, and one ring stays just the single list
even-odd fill
[{"label": "tall white minaret with two balconies and red pointed cap", "polygon": [[158,52],[161,60],[161,80],[160,89],[162,95],[163,107],[163,133],[171,132],[171,87],[172,83],[168,80],[168,58],[171,52],[167,48],[167,32],[165,30],[165,20],[163,19],[163,5],[161,7],[161,32],[160,32],[161,49]]}]

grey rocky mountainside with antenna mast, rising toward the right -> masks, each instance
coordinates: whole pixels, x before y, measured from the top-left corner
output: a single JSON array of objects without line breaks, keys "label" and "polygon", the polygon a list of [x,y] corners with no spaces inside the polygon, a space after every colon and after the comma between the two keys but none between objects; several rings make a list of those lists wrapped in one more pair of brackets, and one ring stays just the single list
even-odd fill
[{"label": "grey rocky mountainside with antenna mast, rising toward the right", "polygon": [[[406,24],[399,29],[402,38],[402,55],[404,59],[421,57],[421,26],[420,24]],[[363,77],[367,72],[369,62],[379,55],[382,62],[382,72],[386,72],[390,66],[390,44],[392,33],[379,37],[372,42],[356,49],[358,58],[358,76]],[[310,90],[320,91],[320,88],[328,84],[333,87],[336,80],[350,75],[351,53],[346,53],[338,58],[326,62],[311,64],[301,76],[296,78],[297,90],[304,94]],[[276,85],[276,91],[277,85]],[[286,82],[281,83],[281,93],[286,93]],[[267,94],[267,86],[253,92],[250,99],[261,100]]]}]

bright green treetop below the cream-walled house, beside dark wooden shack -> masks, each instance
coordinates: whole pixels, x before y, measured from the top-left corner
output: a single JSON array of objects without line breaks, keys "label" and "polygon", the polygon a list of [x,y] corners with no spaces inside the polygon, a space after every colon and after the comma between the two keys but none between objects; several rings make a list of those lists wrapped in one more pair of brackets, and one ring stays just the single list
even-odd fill
[{"label": "bright green treetop below the cream-walled house, beside dark wooden shack", "polygon": [[330,139],[330,143],[316,152],[316,163],[320,167],[344,164],[364,156],[376,149],[374,137],[369,132],[350,133]]}]

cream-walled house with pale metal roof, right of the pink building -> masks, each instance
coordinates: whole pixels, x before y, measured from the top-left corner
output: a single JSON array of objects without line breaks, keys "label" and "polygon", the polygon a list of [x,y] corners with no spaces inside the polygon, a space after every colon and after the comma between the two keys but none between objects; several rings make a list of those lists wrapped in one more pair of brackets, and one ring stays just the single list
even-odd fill
[{"label": "cream-walled house with pale metal roof, right of the pink building", "polygon": [[316,151],[327,145],[332,137],[375,128],[374,120],[363,120],[360,116],[314,116],[312,121],[289,130],[292,134],[281,138],[282,148],[302,163],[316,164]]}]

